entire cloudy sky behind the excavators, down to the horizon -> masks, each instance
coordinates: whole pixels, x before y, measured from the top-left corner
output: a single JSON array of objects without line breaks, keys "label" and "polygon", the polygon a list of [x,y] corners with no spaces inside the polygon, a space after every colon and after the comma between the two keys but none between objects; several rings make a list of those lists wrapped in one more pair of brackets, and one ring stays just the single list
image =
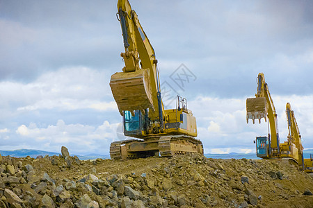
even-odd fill
[{"label": "entire cloudy sky behind the excavators, down to the horizon", "polygon": [[[117,1],[0,1],[0,150],[108,154],[124,139],[109,80],[122,71]],[[246,123],[265,74],[281,141],[291,103],[313,148],[313,2],[133,0],[161,73],[184,96],[205,153],[249,153],[267,123]],[[184,82],[177,74],[185,71]],[[187,76],[186,76],[187,75]]]}]

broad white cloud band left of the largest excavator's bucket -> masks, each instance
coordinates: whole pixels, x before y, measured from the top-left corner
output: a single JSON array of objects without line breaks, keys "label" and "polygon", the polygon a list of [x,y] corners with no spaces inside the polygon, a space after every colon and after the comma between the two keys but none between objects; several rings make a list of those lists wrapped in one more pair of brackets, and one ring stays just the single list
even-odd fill
[{"label": "broad white cloud band left of the largest excavator's bucket", "polygon": [[60,108],[77,110],[113,110],[113,101],[101,101],[111,97],[109,76],[106,71],[87,67],[66,67],[43,73],[32,83],[5,81],[0,83],[3,100],[0,107],[17,111]]}]

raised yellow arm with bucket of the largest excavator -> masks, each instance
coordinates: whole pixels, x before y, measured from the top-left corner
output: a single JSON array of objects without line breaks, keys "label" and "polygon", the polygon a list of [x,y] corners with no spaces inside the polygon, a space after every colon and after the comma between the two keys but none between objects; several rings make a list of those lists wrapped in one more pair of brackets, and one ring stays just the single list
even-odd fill
[{"label": "raised yellow arm with bucket of the largest excavator", "polygon": [[120,114],[135,110],[142,114],[149,108],[149,118],[163,123],[163,103],[157,73],[157,59],[138,16],[128,0],[118,1],[118,19],[122,28],[125,62],[122,72],[111,76],[111,90]]}]

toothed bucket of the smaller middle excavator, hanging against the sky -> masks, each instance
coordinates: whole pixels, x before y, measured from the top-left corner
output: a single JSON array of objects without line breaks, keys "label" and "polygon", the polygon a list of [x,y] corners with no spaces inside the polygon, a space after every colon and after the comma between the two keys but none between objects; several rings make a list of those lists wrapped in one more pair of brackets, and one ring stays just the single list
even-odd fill
[{"label": "toothed bucket of the smaller middle excavator, hanging against the sky", "polygon": [[259,123],[261,123],[262,118],[264,118],[266,122],[266,114],[268,110],[266,98],[248,98],[246,103],[246,109],[247,123],[249,119],[252,119],[253,123],[255,123],[255,119],[259,119]]}]

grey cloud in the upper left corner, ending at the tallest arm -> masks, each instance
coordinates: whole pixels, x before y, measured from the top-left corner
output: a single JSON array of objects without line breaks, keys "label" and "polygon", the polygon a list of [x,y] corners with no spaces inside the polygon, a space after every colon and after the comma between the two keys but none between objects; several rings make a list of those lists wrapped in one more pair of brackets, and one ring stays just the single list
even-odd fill
[{"label": "grey cloud in the upper left corner, ending at the tallest arm", "polygon": [[103,1],[1,3],[0,79],[28,82],[42,70],[79,65],[99,69],[111,65],[110,60],[120,62],[115,8],[115,3]]}]

